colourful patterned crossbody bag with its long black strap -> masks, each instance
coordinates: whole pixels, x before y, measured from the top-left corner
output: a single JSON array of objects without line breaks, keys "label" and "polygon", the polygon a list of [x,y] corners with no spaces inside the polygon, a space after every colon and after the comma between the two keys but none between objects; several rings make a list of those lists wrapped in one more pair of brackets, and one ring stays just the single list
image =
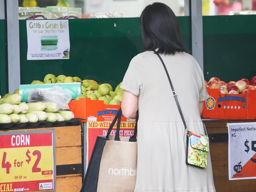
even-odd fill
[{"label": "colourful patterned crossbody bag with its long black strap", "polygon": [[178,107],[179,110],[179,114],[181,116],[183,125],[185,127],[185,132],[186,132],[186,137],[187,137],[187,149],[186,149],[186,164],[190,165],[190,166],[194,166],[194,167],[198,167],[198,168],[206,168],[207,167],[207,152],[209,152],[209,138],[206,132],[206,127],[204,125],[204,134],[197,134],[195,132],[189,131],[187,129],[180,105],[179,105],[179,101],[177,98],[177,94],[176,91],[174,90],[174,87],[172,85],[172,81],[170,79],[170,75],[166,69],[166,66],[164,64],[163,59],[161,58],[161,56],[159,55],[159,53],[157,53],[154,50],[155,54],[159,57],[161,63],[163,64],[164,70],[166,72],[166,75],[168,77],[171,89],[172,89],[172,95],[174,96],[176,105]]}]

